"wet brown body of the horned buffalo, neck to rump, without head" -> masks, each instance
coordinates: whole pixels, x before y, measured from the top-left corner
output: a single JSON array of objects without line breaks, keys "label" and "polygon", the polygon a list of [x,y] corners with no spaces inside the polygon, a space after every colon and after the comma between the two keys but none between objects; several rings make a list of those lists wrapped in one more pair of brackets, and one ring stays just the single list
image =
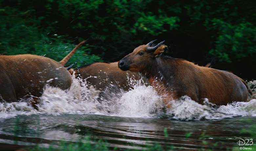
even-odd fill
[{"label": "wet brown body of the horned buffalo, neck to rump, without head", "polygon": [[247,101],[248,97],[246,83],[236,75],[197,66],[183,59],[157,58],[150,75],[162,77],[167,88],[173,88],[174,98],[187,95],[200,103],[208,98],[217,105],[226,105],[233,101]]}]

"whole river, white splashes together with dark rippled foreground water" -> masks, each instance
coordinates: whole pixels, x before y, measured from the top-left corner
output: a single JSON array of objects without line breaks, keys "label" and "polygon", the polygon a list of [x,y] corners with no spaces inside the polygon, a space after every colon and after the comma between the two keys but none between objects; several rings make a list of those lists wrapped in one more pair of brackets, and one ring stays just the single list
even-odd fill
[{"label": "whole river, white splashes together with dark rippled foreground water", "polygon": [[[255,81],[253,82],[255,83]],[[173,150],[235,150],[236,139],[256,137],[256,99],[215,106],[189,97],[172,100],[163,109],[151,86],[134,85],[129,92],[98,91],[75,81],[69,91],[46,87],[38,110],[29,103],[0,103],[0,150],[49,147],[62,141],[95,144],[106,140],[110,149],[145,149],[148,145]]]}]

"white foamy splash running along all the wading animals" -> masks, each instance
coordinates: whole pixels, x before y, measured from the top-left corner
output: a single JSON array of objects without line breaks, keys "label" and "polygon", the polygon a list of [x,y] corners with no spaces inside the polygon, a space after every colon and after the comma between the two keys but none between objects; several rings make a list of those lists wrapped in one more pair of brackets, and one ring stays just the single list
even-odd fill
[{"label": "white foamy splash running along all the wading animals", "polygon": [[[170,100],[171,108],[166,109],[161,96],[140,79],[128,78],[134,88],[126,92],[115,85],[101,93],[86,81],[75,79],[70,90],[46,86],[35,110],[29,101],[0,103],[0,120],[16,115],[93,113],[125,117],[168,117],[177,120],[212,120],[235,116],[256,116],[256,97],[251,96],[248,102],[234,102],[217,107],[205,99],[199,104],[187,96],[179,100]],[[248,85],[256,90],[256,81]]]}]

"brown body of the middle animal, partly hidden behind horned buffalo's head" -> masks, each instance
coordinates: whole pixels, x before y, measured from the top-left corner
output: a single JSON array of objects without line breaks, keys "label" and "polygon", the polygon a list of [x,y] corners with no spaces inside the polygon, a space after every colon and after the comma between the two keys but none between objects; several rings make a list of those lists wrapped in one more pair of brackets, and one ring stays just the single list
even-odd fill
[{"label": "brown body of the middle animal, partly hidden behind horned buffalo's head", "polygon": [[109,84],[113,84],[127,91],[131,88],[127,81],[127,76],[139,80],[138,73],[122,71],[118,68],[118,62],[96,62],[88,66],[70,69],[69,71],[71,74],[75,72],[76,78],[80,77],[86,80],[89,85],[93,85],[98,90],[103,90]]}]

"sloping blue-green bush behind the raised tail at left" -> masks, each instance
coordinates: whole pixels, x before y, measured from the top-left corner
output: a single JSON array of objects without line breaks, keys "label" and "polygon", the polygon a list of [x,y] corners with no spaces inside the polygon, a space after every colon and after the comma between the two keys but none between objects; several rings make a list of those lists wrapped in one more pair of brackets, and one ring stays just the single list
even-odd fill
[{"label": "sloping blue-green bush behind the raised tail at left", "polygon": [[[6,8],[1,13],[0,53],[45,55],[60,61],[75,48],[75,44],[65,36],[55,34],[49,37],[43,32],[40,33],[36,26],[30,25],[29,21],[24,21],[27,19],[23,18],[26,12],[21,13],[15,9]],[[14,15],[15,17],[12,17]],[[34,19],[32,22],[36,23]],[[76,63],[75,66],[82,66],[101,61],[99,56],[90,55],[91,48],[89,44],[80,47],[66,66],[73,63]]]}]

